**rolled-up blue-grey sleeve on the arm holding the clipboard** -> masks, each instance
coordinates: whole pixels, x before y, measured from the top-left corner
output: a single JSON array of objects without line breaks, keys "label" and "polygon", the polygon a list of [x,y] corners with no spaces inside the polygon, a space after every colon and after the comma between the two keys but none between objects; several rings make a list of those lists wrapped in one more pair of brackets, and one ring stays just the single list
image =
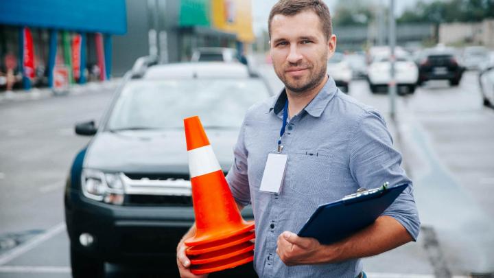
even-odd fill
[{"label": "rolled-up blue-grey sleeve on the arm holding the clipboard", "polygon": [[382,215],[395,218],[416,241],[420,220],[413,184],[401,167],[401,154],[392,148],[386,122],[377,111],[366,111],[353,128],[349,152],[351,174],[360,187],[375,188],[385,182],[390,185],[409,184]]}]

